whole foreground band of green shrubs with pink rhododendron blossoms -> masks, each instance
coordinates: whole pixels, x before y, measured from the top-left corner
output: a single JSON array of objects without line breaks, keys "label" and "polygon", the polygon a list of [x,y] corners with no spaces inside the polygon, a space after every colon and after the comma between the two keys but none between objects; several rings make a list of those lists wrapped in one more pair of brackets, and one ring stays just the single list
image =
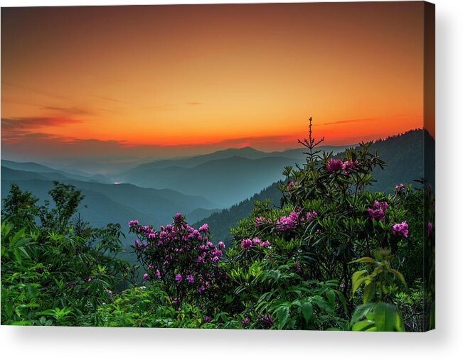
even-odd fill
[{"label": "whole foreground band of green shrubs with pink rhododendron blossoms", "polygon": [[285,180],[267,189],[279,190],[280,202],[262,195],[252,209],[250,202],[233,209],[240,216],[231,219],[231,246],[214,246],[213,228],[195,230],[179,213],[159,231],[130,222],[144,280],[117,257],[119,224],[92,228],[76,215],[83,195],[75,187],[55,183],[51,207],[13,185],[2,212],[1,323],[432,328],[432,256],[422,270],[435,249],[432,192],[403,184],[372,192],[386,166],[381,143],[334,156],[316,149],[321,141],[312,138],[311,119],[309,137],[299,141],[306,162],[284,168]]}]

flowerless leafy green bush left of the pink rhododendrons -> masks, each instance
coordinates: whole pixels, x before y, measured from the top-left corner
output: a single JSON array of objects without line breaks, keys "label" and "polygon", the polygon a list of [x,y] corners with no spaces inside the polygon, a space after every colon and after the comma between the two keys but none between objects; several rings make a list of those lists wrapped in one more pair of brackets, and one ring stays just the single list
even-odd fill
[{"label": "flowerless leafy green bush left of the pink rhododendrons", "polygon": [[[37,207],[17,187],[5,200],[18,206],[2,212],[2,324],[98,324],[97,307],[131,275],[127,263],[115,258],[122,250],[119,225],[92,229],[80,219],[72,222],[80,193],[57,184],[51,195],[52,209]],[[9,222],[17,217],[27,220],[25,227]]]}]

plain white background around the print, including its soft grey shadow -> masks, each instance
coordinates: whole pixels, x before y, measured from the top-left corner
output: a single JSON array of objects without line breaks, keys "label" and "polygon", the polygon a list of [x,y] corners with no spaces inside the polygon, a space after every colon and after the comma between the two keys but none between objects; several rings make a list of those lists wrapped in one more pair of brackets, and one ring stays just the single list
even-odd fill
[{"label": "plain white background around the print, including its soft grey shadow", "polygon": [[[220,1],[0,0],[1,6],[214,2]],[[4,359],[463,359],[463,1],[434,2],[437,330],[425,334],[373,334],[3,326],[0,354]]]}]

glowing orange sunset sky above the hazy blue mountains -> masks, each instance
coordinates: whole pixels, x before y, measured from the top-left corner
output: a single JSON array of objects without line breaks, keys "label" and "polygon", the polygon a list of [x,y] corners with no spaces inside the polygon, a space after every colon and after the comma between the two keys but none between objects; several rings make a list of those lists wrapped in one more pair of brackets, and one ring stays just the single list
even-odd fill
[{"label": "glowing orange sunset sky above the hazy blue mountains", "polygon": [[2,151],[422,128],[422,54],[422,2],[2,9]]}]

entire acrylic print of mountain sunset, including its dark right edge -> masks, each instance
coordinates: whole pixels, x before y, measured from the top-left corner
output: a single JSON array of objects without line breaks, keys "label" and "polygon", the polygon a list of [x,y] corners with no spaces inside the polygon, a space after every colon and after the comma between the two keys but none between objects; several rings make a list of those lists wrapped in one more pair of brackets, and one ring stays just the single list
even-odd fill
[{"label": "entire acrylic print of mountain sunset, including its dark right edge", "polygon": [[434,11],[1,9],[1,324],[433,329]]}]

